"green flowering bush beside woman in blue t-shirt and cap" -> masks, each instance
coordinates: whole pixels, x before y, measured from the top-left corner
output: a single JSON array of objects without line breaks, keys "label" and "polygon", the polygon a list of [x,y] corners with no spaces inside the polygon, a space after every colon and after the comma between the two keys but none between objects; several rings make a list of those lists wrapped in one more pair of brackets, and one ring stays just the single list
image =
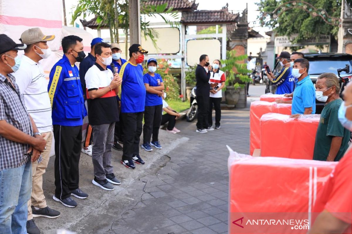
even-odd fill
[{"label": "green flowering bush beside woman in blue t-shirt and cap", "polygon": [[[180,99],[180,86],[178,86],[177,78],[169,74],[169,64],[165,59],[158,59],[157,70],[155,73],[161,75],[165,86],[166,99],[177,100]],[[144,73],[148,72],[148,67],[144,65]]]}]

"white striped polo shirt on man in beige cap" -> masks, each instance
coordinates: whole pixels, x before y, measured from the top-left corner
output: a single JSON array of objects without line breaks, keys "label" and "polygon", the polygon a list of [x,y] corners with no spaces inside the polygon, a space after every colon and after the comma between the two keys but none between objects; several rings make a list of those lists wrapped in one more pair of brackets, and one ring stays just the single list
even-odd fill
[{"label": "white striped polo shirt on man in beige cap", "polygon": [[13,75],[23,94],[27,111],[36,123],[38,131],[40,133],[50,132],[52,127],[51,105],[43,68],[24,55],[18,71]]}]

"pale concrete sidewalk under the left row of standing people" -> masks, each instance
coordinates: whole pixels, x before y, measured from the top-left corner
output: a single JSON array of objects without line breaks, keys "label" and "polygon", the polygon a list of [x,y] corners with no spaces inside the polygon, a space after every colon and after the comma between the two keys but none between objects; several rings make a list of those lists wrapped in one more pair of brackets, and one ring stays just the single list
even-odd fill
[{"label": "pale concrete sidewalk under the left row of standing people", "polygon": [[[169,134],[164,130],[160,130],[159,139],[163,149],[152,152],[145,152],[141,149],[140,155],[146,163],[145,165],[137,164],[134,170],[123,166],[120,163],[122,152],[113,149],[114,174],[122,182],[121,185],[114,186],[113,191],[106,191],[92,184],[94,178],[92,157],[81,153],[80,188],[89,196],[83,200],[73,197],[78,203],[75,208],[65,207],[52,199],[55,191],[55,156],[51,157],[43,178],[44,195],[48,206],[59,210],[61,216],[56,219],[34,218],[41,232],[54,234],[56,229],[64,228],[77,233],[105,233],[104,230],[111,227],[111,220],[121,216],[123,210],[131,203],[137,202],[136,199],[140,200],[140,193],[143,193],[145,183],[139,181],[139,178],[155,174],[170,160],[165,154],[188,140],[186,137]],[[110,227],[105,226],[105,223],[109,223]]]}]

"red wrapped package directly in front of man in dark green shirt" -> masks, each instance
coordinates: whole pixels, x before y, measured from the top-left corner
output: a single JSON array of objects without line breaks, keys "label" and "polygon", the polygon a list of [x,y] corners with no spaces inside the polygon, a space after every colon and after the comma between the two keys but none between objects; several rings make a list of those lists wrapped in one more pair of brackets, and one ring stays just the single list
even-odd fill
[{"label": "red wrapped package directly in front of man in dark green shirt", "polygon": [[260,118],[260,156],[291,159],[313,159],[316,130],[320,115],[289,115],[269,113]]}]

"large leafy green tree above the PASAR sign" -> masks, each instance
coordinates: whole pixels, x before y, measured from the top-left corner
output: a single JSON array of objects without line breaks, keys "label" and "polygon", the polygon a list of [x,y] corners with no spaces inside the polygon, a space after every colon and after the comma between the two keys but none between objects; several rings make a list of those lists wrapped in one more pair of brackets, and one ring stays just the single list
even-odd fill
[{"label": "large leafy green tree above the PASAR sign", "polygon": [[[319,34],[337,36],[339,27],[327,24],[320,16],[313,16],[312,13],[308,13],[304,9],[296,7],[282,11],[282,13],[274,18],[272,12],[277,7],[282,5],[289,0],[260,0],[258,3],[258,9],[260,15],[258,19],[263,26],[274,29],[277,35],[287,35],[298,33],[298,36],[293,41],[294,43],[308,39],[311,37],[318,38]],[[309,4],[313,5],[316,9],[321,9],[326,12],[329,16],[339,18],[341,13],[341,0],[306,0]],[[309,8],[307,10],[309,11]],[[319,11],[321,12],[321,11]]]}]

